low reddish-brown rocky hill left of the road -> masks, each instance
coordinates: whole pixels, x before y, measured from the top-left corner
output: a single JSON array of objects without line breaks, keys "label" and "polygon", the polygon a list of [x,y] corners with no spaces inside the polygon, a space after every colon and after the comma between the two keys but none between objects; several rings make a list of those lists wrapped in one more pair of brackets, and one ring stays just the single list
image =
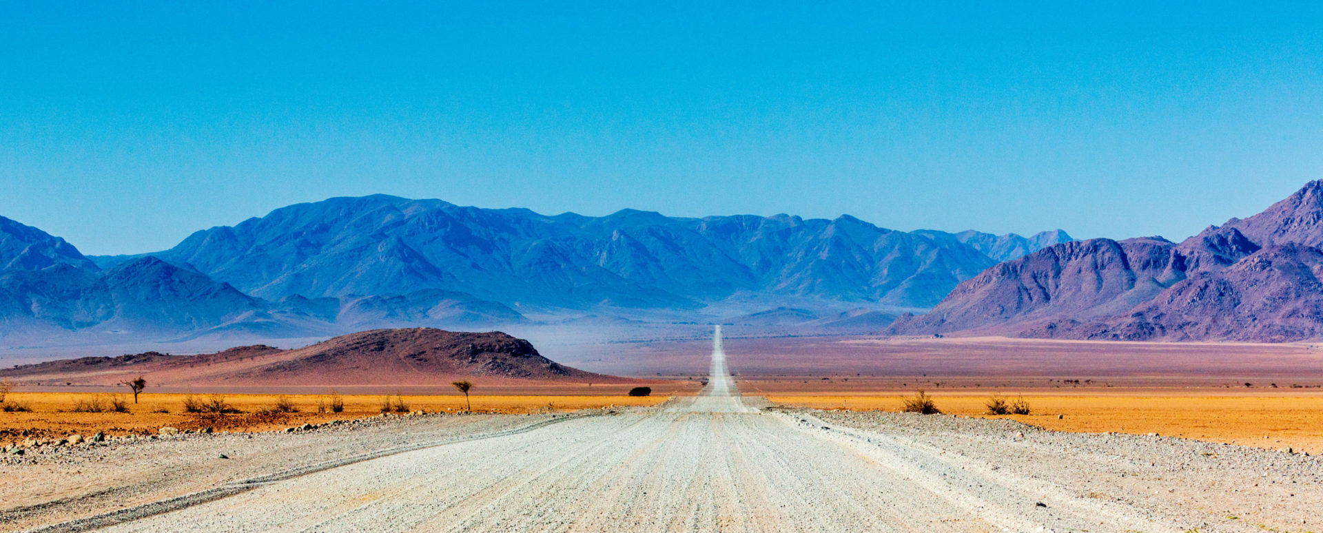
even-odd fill
[{"label": "low reddish-brown rocky hill left of the road", "polygon": [[20,384],[114,385],[144,376],[155,386],[361,386],[438,385],[452,378],[627,381],[560,365],[527,340],[501,332],[463,333],[433,328],[373,329],[306,348],[265,345],[218,353],[156,352],[82,357],[0,370]]}]

